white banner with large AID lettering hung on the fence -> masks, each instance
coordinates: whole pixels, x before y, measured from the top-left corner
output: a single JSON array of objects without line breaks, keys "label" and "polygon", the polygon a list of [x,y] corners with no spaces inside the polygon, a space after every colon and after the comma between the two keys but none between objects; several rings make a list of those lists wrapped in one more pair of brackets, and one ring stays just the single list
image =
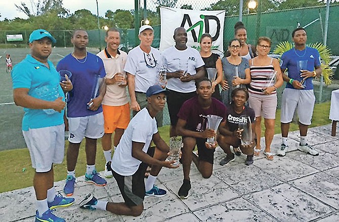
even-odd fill
[{"label": "white banner with large AID lettering hung on the fence", "polygon": [[200,37],[203,33],[209,33],[213,38],[211,49],[223,52],[225,13],[225,10],[193,11],[160,7],[160,51],[174,46],[174,30],[178,27],[184,27],[188,37],[187,46],[200,51]]}]

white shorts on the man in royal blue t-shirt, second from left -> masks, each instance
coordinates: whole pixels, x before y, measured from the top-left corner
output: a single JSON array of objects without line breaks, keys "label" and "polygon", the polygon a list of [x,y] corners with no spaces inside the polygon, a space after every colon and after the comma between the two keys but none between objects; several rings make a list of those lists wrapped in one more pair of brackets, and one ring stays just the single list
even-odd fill
[{"label": "white shorts on the man in royal blue t-shirt, second from left", "polygon": [[104,136],[104,115],[101,113],[92,116],[69,117],[68,141],[74,144],[81,143],[84,137],[99,139]]}]

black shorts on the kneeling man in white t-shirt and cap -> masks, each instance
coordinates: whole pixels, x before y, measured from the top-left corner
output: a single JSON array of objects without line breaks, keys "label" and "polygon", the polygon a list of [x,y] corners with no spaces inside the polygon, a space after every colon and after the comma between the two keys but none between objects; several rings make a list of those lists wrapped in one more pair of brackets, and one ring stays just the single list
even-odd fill
[{"label": "black shorts on the kneeling man in white t-shirt and cap", "polygon": [[[148,149],[149,156],[154,155],[154,147]],[[118,184],[122,198],[129,207],[142,205],[145,197],[145,172],[147,163],[141,163],[138,170],[130,176],[123,176],[112,171],[114,179]]]}]

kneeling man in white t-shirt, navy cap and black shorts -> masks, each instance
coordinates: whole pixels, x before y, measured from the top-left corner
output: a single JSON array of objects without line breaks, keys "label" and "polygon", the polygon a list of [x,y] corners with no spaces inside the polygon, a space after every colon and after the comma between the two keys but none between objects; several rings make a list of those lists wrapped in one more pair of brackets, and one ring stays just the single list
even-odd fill
[{"label": "kneeling man in white t-shirt, navy cap and black shorts", "polygon": [[[92,194],[89,194],[80,202],[81,208],[101,209],[115,214],[139,216],[144,209],[145,195],[160,197],[166,194],[166,191],[154,186],[156,177],[152,176],[153,170],[157,170],[159,173],[162,166],[178,167],[172,165],[175,161],[165,161],[170,148],[161,139],[154,118],[158,112],[163,110],[166,94],[160,85],[152,85],[148,88],[146,92],[147,108],[142,109],[133,117],[114,152],[110,170],[113,172],[125,202],[112,203],[97,200]],[[151,141],[156,145],[155,150],[149,148]],[[148,164],[152,165],[152,171],[143,186]],[[149,185],[153,186],[152,192],[145,193]]]}]

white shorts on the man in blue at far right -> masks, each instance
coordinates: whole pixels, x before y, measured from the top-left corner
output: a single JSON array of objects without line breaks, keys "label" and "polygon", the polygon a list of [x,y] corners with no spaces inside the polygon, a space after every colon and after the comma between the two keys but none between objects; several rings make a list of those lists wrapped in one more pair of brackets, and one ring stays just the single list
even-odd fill
[{"label": "white shorts on the man in blue at far right", "polygon": [[290,123],[297,109],[299,122],[304,125],[311,125],[315,96],[313,90],[295,90],[285,88],[281,98],[280,122]]}]

